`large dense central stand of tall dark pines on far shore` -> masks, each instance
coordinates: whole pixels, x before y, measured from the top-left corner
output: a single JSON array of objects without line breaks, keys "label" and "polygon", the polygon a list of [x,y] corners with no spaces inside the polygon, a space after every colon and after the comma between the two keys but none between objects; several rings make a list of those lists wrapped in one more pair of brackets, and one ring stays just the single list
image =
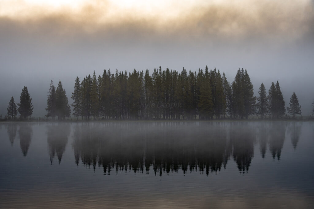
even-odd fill
[{"label": "large dense central stand of tall dark pines on far shore", "polygon": [[216,69],[181,73],[154,69],[96,76],[95,71],[75,79],[73,115],[78,119],[208,120],[248,118],[256,113],[253,84],[239,69],[230,84]]}]

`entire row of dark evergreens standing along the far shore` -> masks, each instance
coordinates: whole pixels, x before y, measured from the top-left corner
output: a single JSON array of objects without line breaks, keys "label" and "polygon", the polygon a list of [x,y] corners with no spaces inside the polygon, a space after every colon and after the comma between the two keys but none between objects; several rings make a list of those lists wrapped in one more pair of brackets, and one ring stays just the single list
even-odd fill
[{"label": "entire row of dark evergreens standing along the far shore", "polygon": [[[25,89],[24,89],[25,90]],[[23,93],[23,92],[22,92]],[[72,111],[61,81],[57,88],[51,80],[47,98],[46,117],[59,120],[74,116],[84,120],[212,120],[255,118],[295,118],[301,114],[301,106],[293,92],[286,107],[279,82],[272,82],[268,94],[265,85],[254,96],[253,84],[247,71],[239,69],[233,82],[219,70],[198,72],[154,69],[149,71],[125,71],[103,75],[90,74],[74,82]],[[21,101],[25,95],[20,98]],[[13,97],[12,97],[13,98]],[[14,100],[9,103],[8,118],[17,116]],[[31,98],[27,101],[28,113],[19,110],[20,118],[32,114]],[[25,99],[24,99],[25,100]],[[27,106],[26,105],[26,106]],[[30,111],[31,109],[31,111]],[[286,111],[287,109],[287,111]],[[313,111],[314,113],[314,105]],[[288,115],[288,114],[289,115]]]}]

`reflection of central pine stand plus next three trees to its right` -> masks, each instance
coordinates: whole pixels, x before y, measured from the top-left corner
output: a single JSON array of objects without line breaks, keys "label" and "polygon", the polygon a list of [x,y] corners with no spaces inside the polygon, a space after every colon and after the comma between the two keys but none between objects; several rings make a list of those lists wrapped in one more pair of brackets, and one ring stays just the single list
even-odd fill
[{"label": "reflection of central pine stand plus next three trees to its right", "polygon": [[155,175],[182,170],[217,174],[233,157],[240,173],[247,173],[260,143],[280,159],[285,139],[284,123],[176,123],[78,124],[74,130],[75,162],[104,174],[112,170]]}]

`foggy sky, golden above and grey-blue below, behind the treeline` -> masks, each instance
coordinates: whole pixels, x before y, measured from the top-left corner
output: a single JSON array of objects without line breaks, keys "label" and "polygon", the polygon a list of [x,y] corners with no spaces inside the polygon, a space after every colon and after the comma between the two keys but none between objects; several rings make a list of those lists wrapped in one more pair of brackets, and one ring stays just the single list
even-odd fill
[{"label": "foggy sky, golden above and grey-blue below, behind the treeline", "polygon": [[[68,97],[76,76],[161,66],[225,72],[247,69],[257,96],[280,83],[295,91],[302,115],[314,99],[311,0],[0,0],[0,113],[23,86],[35,117],[45,115],[51,79]],[[69,98],[69,101],[72,100]]]}]

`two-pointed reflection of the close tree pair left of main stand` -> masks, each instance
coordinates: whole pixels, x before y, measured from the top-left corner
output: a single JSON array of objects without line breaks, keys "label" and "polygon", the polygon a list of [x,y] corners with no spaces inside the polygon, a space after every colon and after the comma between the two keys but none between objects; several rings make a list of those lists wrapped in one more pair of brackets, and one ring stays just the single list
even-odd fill
[{"label": "two-pointed reflection of the close tree pair left of main stand", "polygon": [[55,155],[57,155],[59,164],[61,163],[69,135],[70,125],[68,123],[53,123],[47,126],[47,143],[51,164]]}]

